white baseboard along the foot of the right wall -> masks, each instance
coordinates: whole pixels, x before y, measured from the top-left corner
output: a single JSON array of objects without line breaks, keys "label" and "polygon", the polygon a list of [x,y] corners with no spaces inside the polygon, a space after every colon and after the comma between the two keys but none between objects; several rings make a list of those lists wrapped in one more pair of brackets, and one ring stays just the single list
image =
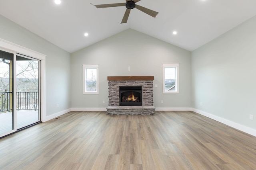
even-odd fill
[{"label": "white baseboard along the foot of the right wall", "polygon": [[244,125],[240,125],[240,124],[238,124],[238,123],[229,121],[229,120],[227,120],[227,119],[224,119],[224,118],[222,118],[222,117],[218,117],[218,116],[216,116],[216,115],[212,115],[212,114],[207,113],[207,112],[205,112],[205,111],[201,111],[201,110],[194,109],[194,108],[192,109],[192,111],[194,111],[194,112],[196,112],[196,113],[198,113],[198,114],[200,114],[200,115],[204,115],[204,116],[206,116],[206,117],[209,117],[209,118],[211,118],[211,119],[214,119],[214,120],[216,120],[216,121],[218,121],[218,122],[220,122],[220,123],[223,123],[223,124],[225,124],[225,125],[228,125],[228,126],[230,126],[230,127],[234,127],[235,129],[238,129],[238,130],[240,130],[240,131],[243,131],[243,132],[245,132],[245,133],[248,133],[248,134],[253,135],[253,136],[256,137],[256,130],[255,130],[255,129],[252,129],[252,128],[250,128],[250,127],[246,127],[246,126],[244,126]]}]

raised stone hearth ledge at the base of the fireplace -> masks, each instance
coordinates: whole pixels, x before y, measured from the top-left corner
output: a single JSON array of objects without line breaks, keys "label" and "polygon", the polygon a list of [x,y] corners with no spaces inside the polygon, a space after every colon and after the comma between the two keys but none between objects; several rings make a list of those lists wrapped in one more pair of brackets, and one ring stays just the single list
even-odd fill
[{"label": "raised stone hearth ledge at the base of the fireplace", "polygon": [[154,115],[154,106],[108,106],[108,115]]}]

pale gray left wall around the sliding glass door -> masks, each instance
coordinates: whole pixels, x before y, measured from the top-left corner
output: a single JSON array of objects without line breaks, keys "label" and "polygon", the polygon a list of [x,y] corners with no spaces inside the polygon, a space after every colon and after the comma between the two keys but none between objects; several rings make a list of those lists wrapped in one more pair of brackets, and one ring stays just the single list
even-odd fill
[{"label": "pale gray left wall around the sliding glass door", "polygon": [[[0,15],[0,38],[46,56],[46,115],[71,108],[70,53]],[[31,56],[33,57],[33,56]],[[57,107],[59,104],[59,107]]]}]

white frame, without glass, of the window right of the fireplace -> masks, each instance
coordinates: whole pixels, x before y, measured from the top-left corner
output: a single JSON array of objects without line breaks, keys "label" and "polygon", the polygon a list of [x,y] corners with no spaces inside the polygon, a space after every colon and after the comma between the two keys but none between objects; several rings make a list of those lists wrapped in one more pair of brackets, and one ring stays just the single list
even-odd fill
[{"label": "white frame, without glass, of the window right of the fireplace", "polygon": [[[163,94],[178,94],[179,93],[179,64],[180,63],[162,63],[163,67]],[[176,84],[175,91],[165,91],[165,68],[175,68],[176,69]]]}]

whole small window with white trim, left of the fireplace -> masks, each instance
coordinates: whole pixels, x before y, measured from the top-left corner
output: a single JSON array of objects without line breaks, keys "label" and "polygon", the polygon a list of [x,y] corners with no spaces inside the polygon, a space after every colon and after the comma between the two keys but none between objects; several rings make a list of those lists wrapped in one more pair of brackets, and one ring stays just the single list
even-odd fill
[{"label": "whole small window with white trim, left of the fireplace", "polygon": [[99,94],[99,64],[83,64],[84,94]]}]

